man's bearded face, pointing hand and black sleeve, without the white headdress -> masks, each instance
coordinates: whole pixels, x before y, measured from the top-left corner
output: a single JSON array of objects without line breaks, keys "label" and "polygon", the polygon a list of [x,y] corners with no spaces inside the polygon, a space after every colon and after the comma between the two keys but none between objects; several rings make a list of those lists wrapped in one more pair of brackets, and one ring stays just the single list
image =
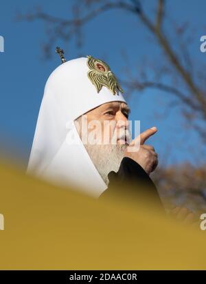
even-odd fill
[{"label": "man's bearded face, pointing hand and black sleeve, without the white headdress", "polygon": [[[155,198],[160,203],[155,185],[149,178],[150,172],[155,170],[158,164],[157,153],[154,147],[144,144],[150,135],[157,132],[157,128],[152,127],[144,131],[130,142],[129,112],[130,109],[126,103],[118,101],[104,103],[77,118],[76,128],[95,168],[108,185],[108,189],[102,196],[108,196],[108,194],[110,196],[111,191],[114,192],[115,189],[119,194],[120,187],[127,188],[127,194],[131,194],[129,189],[133,187],[133,193],[135,190],[135,193],[141,196],[145,190],[147,192],[150,190],[153,200]],[[95,122],[98,122],[100,129],[98,131],[95,129],[94,132],[93,128],[97,126]],[[89,123],[91,123],[90,128]],[[92,132],[94,132],[93,135],[90,135]],[[137,144],[140,145],[135,149]]]}]

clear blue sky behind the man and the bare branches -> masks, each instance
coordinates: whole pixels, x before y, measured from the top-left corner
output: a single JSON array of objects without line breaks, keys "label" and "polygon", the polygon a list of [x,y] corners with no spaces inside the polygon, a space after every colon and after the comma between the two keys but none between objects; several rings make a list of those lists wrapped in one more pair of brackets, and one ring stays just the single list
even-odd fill
[{"label": "clear blue sky behind the man and the bare branches", "polygon": [[[21,157],[25,164],[30,155],[45,83],[60,60],[55,52],[49,60],[43,58],[41,44],[47,40],[45,23],[16,21],[15,16],[18,12],[32,12],[39,5],[49,14],[69,18],[73,2],[8,0],[1,3],[0,35],[5,39],[5,52],[0,53],[1,152]],[[153,16],[155,2],[156,0],[144,1],[144,8],[150,18]],[[168,0],[169,21],[188,21],[194,28],[193,43],[189,49],[197,66],[206,62],[206,53],[199,50],[200,38],[206,34],[205,10],[204,0]],[[170,36],[169,25],[165,27]],[[84,45],[80,49],[73,39],[71,42],[56,41],[52,49],[60,45],[65,49],[67,60],[86,55],[98,57],[111,66],[119,79],[128,79],[126,67],[135,75],[145,57],[148,61],[155,62],[155,58],[161,56],[154,38],[138,18],[122,10],[106,12],[93,19],[84,26],[83,34]],[[175,43],[175,39],[173,42]],[[128,55],[128,62],[123,60],[122,52]],[[185,120],[181,117],[181,105],[167,107],[171,98],[167,93],[151,89],[142,93],[134,92],[128,98],[132,111],[130,120],[141,120],[141,131],[157,126],[159,131],[148,140],[148,144],[155,146],[161,164],[205,162],[205,145],[194,129],[185,125]]]}]

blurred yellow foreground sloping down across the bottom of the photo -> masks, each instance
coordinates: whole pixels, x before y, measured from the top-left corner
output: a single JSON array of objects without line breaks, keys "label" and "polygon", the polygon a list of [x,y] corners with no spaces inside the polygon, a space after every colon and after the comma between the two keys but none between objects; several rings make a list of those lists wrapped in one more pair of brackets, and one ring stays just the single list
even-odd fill
[{"label": "blurred yellow foreground sloping down across the bottom of the photo", "polygon": [[0,177],[1,270],[206,268],[205,231],[166,220],[150,203],[95,200],[3,162]]}]

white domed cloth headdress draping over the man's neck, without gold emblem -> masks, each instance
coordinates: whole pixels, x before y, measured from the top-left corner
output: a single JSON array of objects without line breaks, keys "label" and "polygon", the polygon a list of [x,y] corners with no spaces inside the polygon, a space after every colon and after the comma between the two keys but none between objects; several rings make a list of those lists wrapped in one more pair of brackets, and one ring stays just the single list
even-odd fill
[{"label": "white domed cloth headdress draping over the man's neck, without gold emblem", "polygon": [[49,76],[27,172],[56,185],[75,185],[98,197],[107,185],[84,148],[74,120],[103,103],[125,100],[119,90],[115,94],[105,86],[96,90],[87,75],[87,60],[67,61]]}]

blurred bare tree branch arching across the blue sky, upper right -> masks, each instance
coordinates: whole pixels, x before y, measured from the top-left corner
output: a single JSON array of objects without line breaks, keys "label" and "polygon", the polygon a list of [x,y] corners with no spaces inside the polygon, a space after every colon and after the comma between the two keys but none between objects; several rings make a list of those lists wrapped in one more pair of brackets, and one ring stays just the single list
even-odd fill
[{"label": "blurred bare tree branch arching across the blue sky, upper right", "polygon": [[[182,90],[179,88],[174,88],[172,86],[165,86],[163,83],[159,82],[152,82],[152,81],[143,81],[128,83],[128,87],[130,90],[136,88],[137,90],[142,90],[144,88],[158,88],[159,90],[163,90],[165,92],[170,92],[177,96],[181,101],[188,107],[192,109],[192,111],[196,111],[198,114],[201,115],[203,120],[206,120],[206,98],[205,92],[199,88],[195,79],[192,77],[192,62],[190,59],[189,53],[185,49],[185,46],[182,44],[181,49],[183,52],[183,58],[186,62],[186,67],[181,64],[181,60],[179,56],[175,53],[174,49],[172,49],[172,44],[168,37],[164,34],[162,29],[162,23],[165,16],[165,0],[157,0],[157,14],[155,17],[154,23],[150,20],[150,18],[144,13],[144,10],[141,7],[141,3],[143,1],[139,0],[130,0],[130,2],[126,1],[100,1],[100,0],[84,0],[83,3],[88,5],[90,12],[87,12],[86,15],[80,16],[80,13],[74,15],[72,19],[62,19],[59,17],[51,16],[41,11],[37,11],[36,14],[29,14],[23,18],[27,19],[28,21],[32,21],[36,18],[42,19],[43,21],[47,21],[52,25],[56,25],[54,28],[54,34],[50,36],[50,38],[54,38],[54,36],[67,39],[69,40],[71,36],[75,35],[79,38],[78,44],[81,44],[80,36],[81,31],[80,27],[82,27],[85,23],[88,23],[96,16],[99,16],[103,12],[108,10],[115,10],[121,9],[127,12],[131,12],[136,15],[141,23],[155,36],[159,47],[163,50],[165,54],[165,58],[168,59],[170,67],[176,71],[176,77],[183,81],[184,87],[187,87],[188,94],[183,94]],[[98,7],[93,8],[93,5],[99,5]],[[92,8],[91,8],[92,7]],[[78,7],[77,7],[78,9]],[[22,17],[21,17],[22,18]],[[185,30],[183,27],[182,30]],[[190,67],[190,70],[187,67]],[[204,130],[200,130],[196,128],[197,131],[201,133],[203,136]]]}]

